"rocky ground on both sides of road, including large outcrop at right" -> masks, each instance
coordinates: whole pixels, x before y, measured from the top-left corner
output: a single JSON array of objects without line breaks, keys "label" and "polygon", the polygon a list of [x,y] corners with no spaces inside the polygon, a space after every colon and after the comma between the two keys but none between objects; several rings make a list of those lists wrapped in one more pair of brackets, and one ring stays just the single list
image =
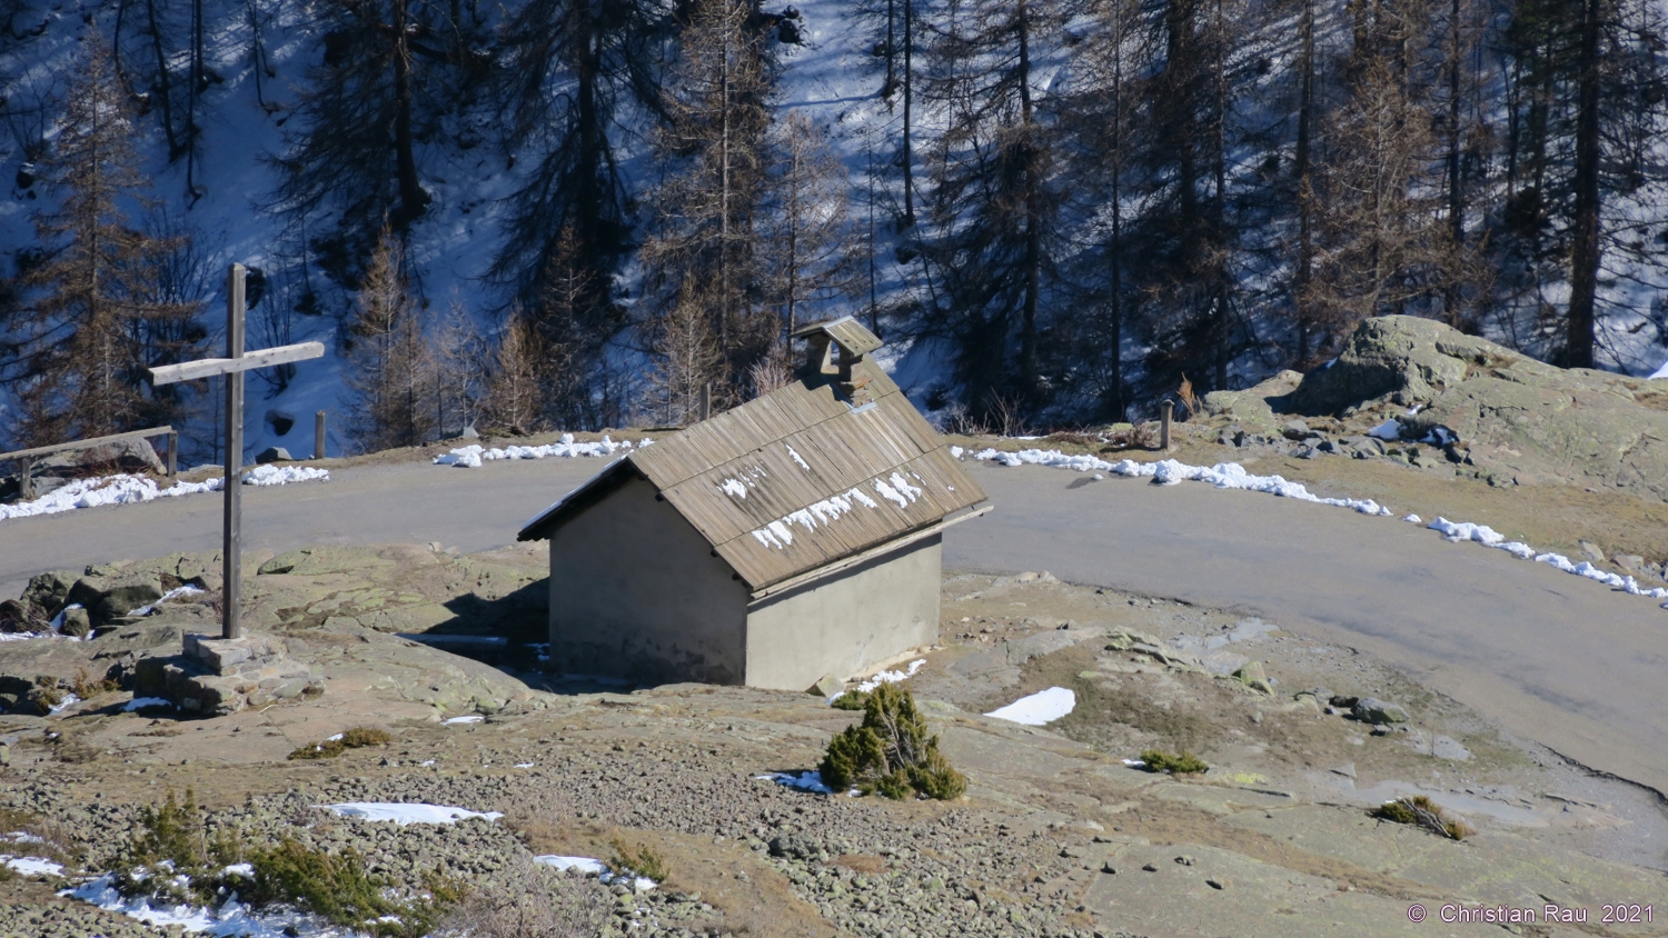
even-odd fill
[{"label": "rocky ground on both sides of road, including large outcrop at right", "polygon": [[[957,443],[1239,462],[1651,585],[1668,561],[1658,383],[1550,370],[1391,317],[1324,372],[1194,402],[1169,453],[1113,445],[1129,428]],[[1401,437],[1369,433],[1388,420]],[[1498,926],[1453,918],[1485,906],[1533,910],[1505,926],[1516,935],[1668,933],[1655,791],[1279,621],[1046,573],[949,575],[941,645],[909,685],[969,790],[887,801],[761,778],[814,768],[854,721],[817,696],[545,673],[542,545],[319,546],[245,563],[245,625],[272,658],[247,678],[182,661],[183,636],[217,620],[214,555],[43,575],[0,603],[0,630],[78,603],[63,625],[90,638],[0,641],[0,855],[67,865],[62,878],[0,876],[0,938],[152,933],[55,890],[130,865],[143,810],[187,790],[205,830],[249,850],[294,836],[357,851],[405,890],[434,875],[469,886],[447,928],[477,936],[1471,935]],[[183,586],[205,593],[163,600]],[[163,660],[237,686],[195,715],[127,711],[160,673],[143,661]],[[1042,728],[981,716],[1048,688],[1073,690],[1076,710]],[[445,723],[464,715],[480,721]],[[287,760],[355,726],[390,741]],[[1209,770],[1128,763],[1149,748]],[[1473,833],[1369,813],[1419,795]],[[319,808],[372,800],[504,816],[394,826]],[[530,865],[642,848],[662,858],[652,890]],[[489,921],[514,895],[540,896],[539,928]],[[1548,923],[1548,906],[1585,921]],[[1616,906],[1641,920],[1606,920]]]}]

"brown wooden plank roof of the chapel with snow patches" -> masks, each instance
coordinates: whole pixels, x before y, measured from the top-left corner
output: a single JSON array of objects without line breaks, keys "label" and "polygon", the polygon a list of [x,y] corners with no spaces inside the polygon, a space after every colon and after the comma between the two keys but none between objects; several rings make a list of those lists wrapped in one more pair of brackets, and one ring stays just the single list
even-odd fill
[{"label": "brown wooden plank roof of the chapel with snow patches", "polygon": [[[856,400],[851,385],[862,390]],[[857,360],[844,385],[806,375],[636,450],[529,521],[520,540],[550,536],[632,471],[752,590],[872,551],[986,500],[886,372]]]}]

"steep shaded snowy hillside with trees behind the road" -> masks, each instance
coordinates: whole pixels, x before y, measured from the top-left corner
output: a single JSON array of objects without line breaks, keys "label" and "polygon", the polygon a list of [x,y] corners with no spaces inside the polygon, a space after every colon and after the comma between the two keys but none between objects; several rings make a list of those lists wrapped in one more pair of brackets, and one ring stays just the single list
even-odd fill
[{"label": "steep shaded snowy hillside with trees behind the road", "polygon": [[[35,222],[67,193],[52,160],[93,38],[115,53],[150,180],[122,200],[130,223],[190,238],[165,285],[202,303],[188,352],[215,347],[230,262],[267,275],[252,345],[332,350],[252,383],[250,455],[310,450],[269,412],[305,427],[352,402],[344,380],[367,367],[350,328],[364,330],[384,223],[430,347],[454,305],[487,348],[512,310],[537,325],[539,357],[560,365],[539,377],[529,430],[664,422],[707,380],[746,397],[786,323],[839,313],[884,333],[899,383],[956,428],[1151,415],[1184,377],[1206,392],[1313,368],[1383,313],[1541,360],[1663,363],[1658,5],[1610,13],[1616,40],[1596,63],[1536,32],[1568,15],[1558,3],[1540,20],[1495,0],[1371,22],[1303,3],[1169,7],[1186,17],[1113,0],[817,0],[742,10],[724,38],[652,0],[597,20],[530,0],[15,3],[0,30],[13,180],[0,273],[17,277],[0,407],[20,413],[25,323],[53,290],[27,272],[63,247]],[[575,23],[590,38],[564,45]],[[756,73],[752,98],[701,97],[721,40]],[[1603,73],[1591,158],[1585,105],[1563,93],[1590,68]],[[1563,110],[1533,112],[1525,75]],[[701,215],[719,185],[702,133],[746,108],[751,123],[724,127],[752,175],[724,175],[722,217]],[[1413,113],[1433,130],[1364,143]],[[1386,167],[1404,182],[1371,203],[1349,195]],[[577,287],[557,303],[560,270]],[[686,280],[711,295],[681,293]],[[679,310],[721,345],[687,375],[672,367]],[[489,400],[500,370],[487,352],[432,378],[467,387],[455,405],[434,390],[435,427],[405,433],[512,423]],[[212,458],[214,395],[170,407],[192,460]],[[367,447],[334,427],[332,453]]]}]

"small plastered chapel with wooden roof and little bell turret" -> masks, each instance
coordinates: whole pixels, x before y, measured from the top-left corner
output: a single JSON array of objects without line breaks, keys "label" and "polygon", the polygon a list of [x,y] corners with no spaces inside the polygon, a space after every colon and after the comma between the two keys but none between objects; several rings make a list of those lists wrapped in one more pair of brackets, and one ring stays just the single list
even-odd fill
[{"label": "small plastered chapel with wooden roof and little bell turret", "polygon": [[851,317],[784,388],[624,457],[522,528],[550,541],[567,673],[806,690],[937,641],[944,528],[991,510]]}]

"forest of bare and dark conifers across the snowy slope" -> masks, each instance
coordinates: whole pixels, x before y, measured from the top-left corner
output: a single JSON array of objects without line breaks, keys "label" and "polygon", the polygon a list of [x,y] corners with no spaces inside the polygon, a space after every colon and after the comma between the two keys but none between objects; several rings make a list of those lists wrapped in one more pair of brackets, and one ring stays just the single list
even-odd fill
[{"label": "forest of bare and dark conifers across the snowy slope", "polygon": [[[168,220],[202,195],[229,10],[282,127],[252,193],[285,232],[272,302],[342,320],[362,447],[681,423],[702,385],[777,387],[787,333],[841,313],[932,343],[927,407],[989,427],[1313,368],[1386,313],[1566,367],[1641,365],[1616,330],[1668,347],[1651,0],[105,7],[57,98],[17,67],[30,3],[0,23],[17,185],[53,207],[0,283],[18,443],[183,407],[138,365],[205,343],[203,250]],[[279,22],[312,43],[282,93]],[[867,120],[791,100],[812,25],[856,37]],[[148,188],[137,130],[183,193]],[[514,182],[477,310],[409,260],[464,153]]]}]

